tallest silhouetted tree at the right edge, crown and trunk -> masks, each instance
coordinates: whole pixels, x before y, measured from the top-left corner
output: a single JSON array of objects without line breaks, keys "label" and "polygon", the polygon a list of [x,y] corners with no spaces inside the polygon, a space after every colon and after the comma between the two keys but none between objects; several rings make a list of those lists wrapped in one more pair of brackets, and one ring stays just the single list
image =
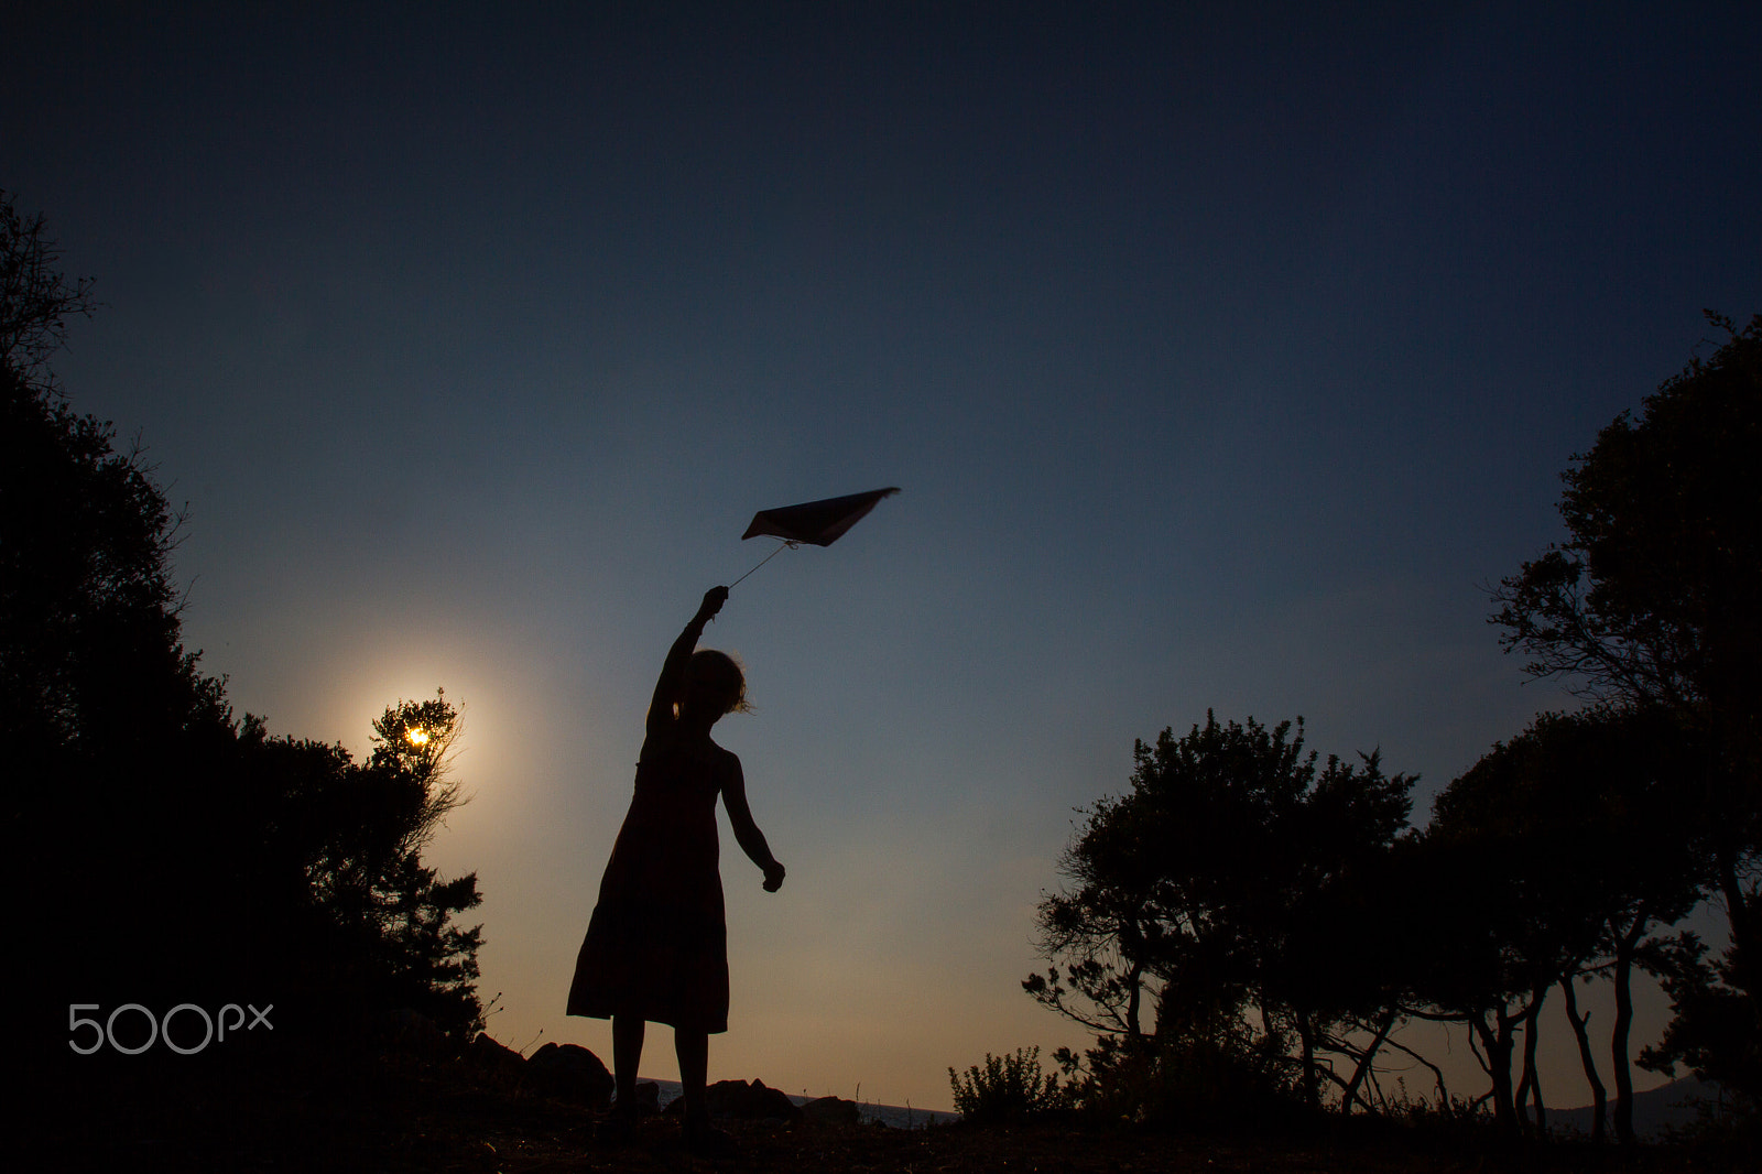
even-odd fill
[{"label": "tallest silhouetted tree at the right edge, crown and trunk", "polygon": [[[1704,747],[1672,781],[1700,816],[1692,839],[1732,947],[1720,968],[1674,975],[1672,991],[1679,1019],[1718,1007],[1725,1024],[1683,1024],[1681,1038],[1753,1054],[1762,1040],[1753,961],[1762,957],[1762,316],[1743,331],[1707,317],[1727,342],[1573,460],[1561,497],[1568,539],[1499,585],[1492,620],[1508,649],[1535,658],[1529,673],[1565,675],[1609,705],[1663,710]],[[1660,964],[1670,957],[1686,955]],[[1729,1031],[1732,1022],[1743,1031]],[[1690,1052],[1706,1054],[1681,1058]]]}]

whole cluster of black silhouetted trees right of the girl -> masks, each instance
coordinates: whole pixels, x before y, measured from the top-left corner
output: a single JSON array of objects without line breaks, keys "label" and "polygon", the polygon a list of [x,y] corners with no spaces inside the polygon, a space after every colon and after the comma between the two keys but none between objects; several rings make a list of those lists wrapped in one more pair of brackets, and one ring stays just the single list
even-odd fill
[{"label": "whole cluster of black silhouetted trees right of the girl", "polygon": [[[1558,991],[1602,1133],[1603,1045],[1577,994],[1610,980],[1609,1119],[1632,1139],[1635,966],[1676,1008],[1640,1063],[1757,1103],[1762,319],[1709,319],[1729,342],[1575,458],[1568,541],[1494,592],[1507,647],[1586,712],[1494,746],[1422,834],[1403,834],[1411,779],[1374,754],[1318,769],[1300,728],[1212,717],[1138,744],[1131,790],[1084,813],[1066,890],[1040,906],[1052,966],[1024,987],[1096,1033],[1059,1058],[1087,1107],[1207,1125],[1327,1096],[1387,1109],[1378,1051],[1425,1017],[1464,1024],[1491,1082],[1464,1102],[1433,1068],[1425,1112],[1545,1133],[1535,1042]],[[1730,917],[1721,957],[1655,936],[1709,895]]]}]

